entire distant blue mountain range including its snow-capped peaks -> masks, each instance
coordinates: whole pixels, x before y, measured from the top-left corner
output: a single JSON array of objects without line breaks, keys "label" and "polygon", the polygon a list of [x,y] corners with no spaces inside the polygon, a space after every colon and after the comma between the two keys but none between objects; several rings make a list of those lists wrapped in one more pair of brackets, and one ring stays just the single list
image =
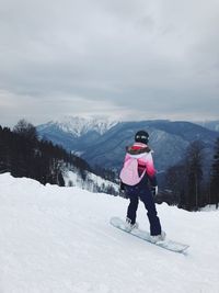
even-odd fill
[{"label": "entire distant blue mountain range including its snow-capped peaks", "polygon": [[[93,123],[88,124],[77,124],[77,121],[83,121],[83,119],[72,119],[72,124],[67,123],[66,127],[60,126],[62,124],[54,123],[41,125],[37,131],[41,136],[45,136],[80,155],[91,166],[100,165],[108,169],[122,167],[125,147],[132,143],[135,133],[139,129],[147,129],[150,134],[149,144],[154,150],[155,166],[159,171],[166,170],[170,166],[177,164],[183,158],[189,143],[196,139],[201,140],[205,145],[205,164],[208,166],[211,161],[214,144],[218,137],[217,132],[183,121],[110,123],[104,122],[104,120],[100,122],[94,120]],[[97,132],[97,128],[101,129],[100,125],[105,126]],[[70,128],[74,128],[74,134]],[[81,134],[81,136],[76,136],[76,133]]]}]

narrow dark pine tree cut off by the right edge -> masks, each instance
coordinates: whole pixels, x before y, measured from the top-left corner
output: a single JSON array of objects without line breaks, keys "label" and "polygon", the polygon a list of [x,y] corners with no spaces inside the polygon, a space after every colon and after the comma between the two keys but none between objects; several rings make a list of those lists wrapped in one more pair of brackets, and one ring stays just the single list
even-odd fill
[{"label": "narrow dark pine tree cut off by the right edge", "polygon": [[215,156],[211,166],[211,178],[210,178],[210,202],[219,205],[219,138],[216,140]]}]

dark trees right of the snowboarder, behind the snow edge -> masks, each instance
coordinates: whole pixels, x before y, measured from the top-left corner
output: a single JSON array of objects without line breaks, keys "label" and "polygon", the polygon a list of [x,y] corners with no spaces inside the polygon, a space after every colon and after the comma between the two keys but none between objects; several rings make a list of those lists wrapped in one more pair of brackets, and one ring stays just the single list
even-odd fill
[{"label": "dark trees right of the snowboarder, behind the snow edge", "polygon": [[165,176],[166,202],[187,211],[197,211],[207,204],[219,206],[219,138],[209,168],[205,166],[204,144],[193,142],[181,164],[169,168]]}]

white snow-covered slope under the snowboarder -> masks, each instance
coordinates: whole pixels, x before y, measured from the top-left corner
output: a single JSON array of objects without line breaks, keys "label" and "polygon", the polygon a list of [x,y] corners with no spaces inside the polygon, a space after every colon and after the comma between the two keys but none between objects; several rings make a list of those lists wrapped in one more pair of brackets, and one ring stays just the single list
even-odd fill
[{"label": "white snow-covered slope under the snowboarder", "polygon": [[[158,205],[175,253],[110,225],[128,201],[0,176],[1,293],[218,293],[219,212]],[[142,204],[141,228],[148,229]]]}]

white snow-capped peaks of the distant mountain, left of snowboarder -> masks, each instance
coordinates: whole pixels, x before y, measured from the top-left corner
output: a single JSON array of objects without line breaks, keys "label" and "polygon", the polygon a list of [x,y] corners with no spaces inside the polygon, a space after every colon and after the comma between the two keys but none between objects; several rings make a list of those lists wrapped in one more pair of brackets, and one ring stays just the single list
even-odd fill
[{"label": "white snow-capped peaks of the distant mountain, left of snowboarder", "polygon": [[102,135],[117,123],[117,121],[113,121],[105,116],[94,116],[88,119],[78,116],[64,116],[59,121],[51,121],[48,124],[55,125],[64,132],[71,133],[74,136],[80,137],[90,131],[95,131]]}]

